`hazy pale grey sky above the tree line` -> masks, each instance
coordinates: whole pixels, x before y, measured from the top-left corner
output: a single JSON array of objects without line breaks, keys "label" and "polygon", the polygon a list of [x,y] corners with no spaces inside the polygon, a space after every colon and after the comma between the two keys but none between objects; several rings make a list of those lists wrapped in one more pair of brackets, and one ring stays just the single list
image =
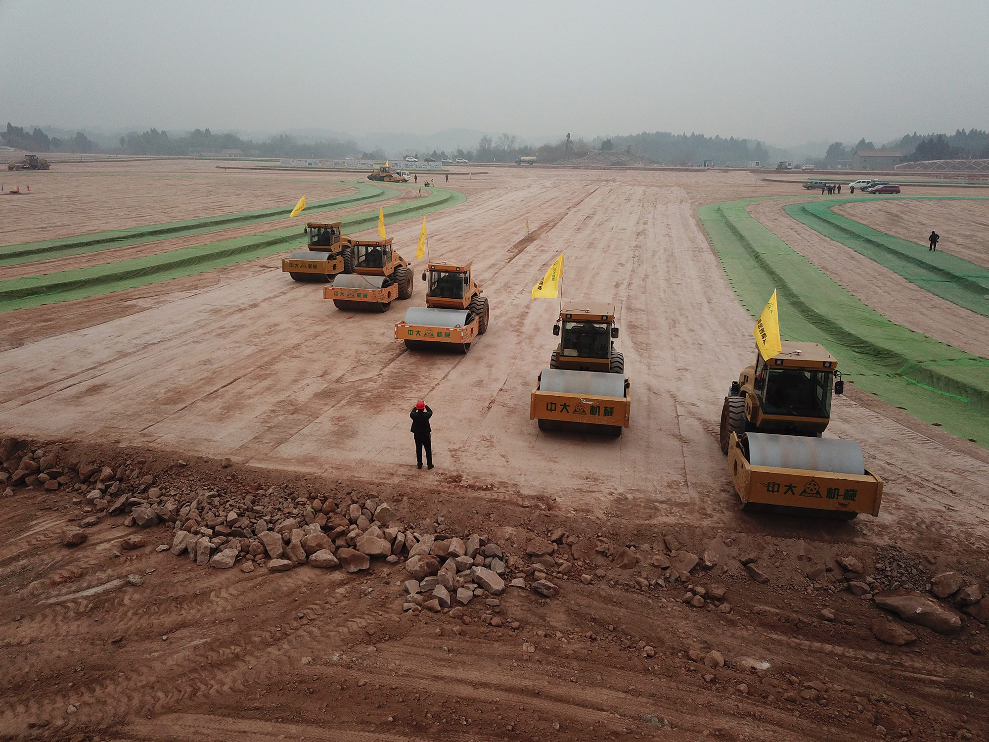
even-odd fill
[{"label": "hazy pale grey sky above the tree line", "polygon": [[0,0],[0,117],[878,143],[989,128],[987,32],[985,0]]}]

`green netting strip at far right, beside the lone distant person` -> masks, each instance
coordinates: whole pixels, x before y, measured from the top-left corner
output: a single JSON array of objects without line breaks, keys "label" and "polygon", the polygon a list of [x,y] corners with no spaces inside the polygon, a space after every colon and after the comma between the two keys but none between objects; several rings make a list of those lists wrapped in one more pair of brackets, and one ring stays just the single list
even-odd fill
[{"label": "green netting strip at far right, beside the lone distant person", "polygon": [[783,210],[815,232],[851,247],[922,289],[989,317],[989,268],[942,250],[929,250],[927,245],[877,232],[832,211],[836,206],[849,202],[861,203],[857,199],[812,201],[790,204]]}]

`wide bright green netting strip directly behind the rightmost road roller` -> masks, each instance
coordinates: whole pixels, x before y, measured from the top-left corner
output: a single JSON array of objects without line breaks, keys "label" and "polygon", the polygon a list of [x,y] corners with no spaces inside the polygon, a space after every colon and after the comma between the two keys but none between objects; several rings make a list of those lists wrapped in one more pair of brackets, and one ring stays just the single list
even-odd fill
[{"label": "wide bright green netting strip directly behind the rightmost road roller", "polygon": [[989,360],[895,325],[754,219],[746,199],[701,207],[728,281],[754,318],[778,291],[784,337],[820,342],[863,391],[989,447]]}]

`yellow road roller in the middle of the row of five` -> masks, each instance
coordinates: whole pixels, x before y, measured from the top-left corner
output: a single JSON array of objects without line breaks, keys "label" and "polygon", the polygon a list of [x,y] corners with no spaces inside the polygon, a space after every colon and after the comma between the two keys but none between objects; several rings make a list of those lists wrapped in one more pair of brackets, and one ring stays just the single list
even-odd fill
[{"label": "yellow road roller in the middle of the row of five", "polygon": [[471,263],[429,263],[422,271],[426,306],[412,307],[395,325],[395,337],[410,350],[455,350],[466,353],[488,330],[488,297],[471,278]]}]

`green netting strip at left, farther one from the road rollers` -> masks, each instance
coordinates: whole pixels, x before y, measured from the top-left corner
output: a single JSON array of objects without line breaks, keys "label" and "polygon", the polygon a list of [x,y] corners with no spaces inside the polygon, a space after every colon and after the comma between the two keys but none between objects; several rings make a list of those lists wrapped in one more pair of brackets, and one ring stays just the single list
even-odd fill
[{"label": "green netting strip at left, farther one from the road rollers", "polygon": [[[340,182],[342,183],[343,181]],[[373,186],[368,183],[349,183],[348,185],[355,186],[357,193],[328,201],[315,201],[312,204],[308,204],[302,213],[313,215],[316,212],[326,211],[328,209],[340,209],[345,206],[352,206],[353,204],[383,201],[394,198],[396,195],[394,189]],[[291,211],[291,207],[282,206],[276,209],[259,209],[252,212],[221,214],[216,217],[190,219],[184,222],[132,227],[127,230],[92,232],[72,237],[62,237],[60,239],[44,239],[38,242],[8,244],[0,247],[0,265],[19,265],[34,260],[48,260],[54,257],[76,255],[82,252],[98,252],[99,250],[106,250],[111,247],[126,247],[129,244],[136,244],[138,242],[154,242],[159,239],[172,239],[188,234],[218,232],[220,230],[228,230],[231,227],[273,222],[279,219],[288,219]]]}]

